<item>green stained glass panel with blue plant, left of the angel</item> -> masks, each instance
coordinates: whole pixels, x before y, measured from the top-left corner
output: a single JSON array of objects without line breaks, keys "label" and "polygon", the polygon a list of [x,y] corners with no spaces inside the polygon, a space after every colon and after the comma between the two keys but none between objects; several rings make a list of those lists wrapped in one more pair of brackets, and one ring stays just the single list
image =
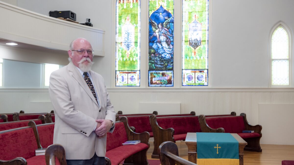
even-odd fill
[{"label": "green stained glass panel with blue plant, left of the angel", "polygon": [[116,1],[116,86],[140,86],[140,0]]}]

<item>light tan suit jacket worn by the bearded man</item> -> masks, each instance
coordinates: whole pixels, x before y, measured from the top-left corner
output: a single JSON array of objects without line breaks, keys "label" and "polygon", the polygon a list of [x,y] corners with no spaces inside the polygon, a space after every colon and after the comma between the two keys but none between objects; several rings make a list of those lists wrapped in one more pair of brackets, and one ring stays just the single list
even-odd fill
[{"label": "light tan suit jacket worn by the bearded man", "polygon": [[106,136],[99,139],[93,132],[95,120],[115,122],[115,111],[102,76],[93,71],[90,75],[100,105],[73,63],[50,75],[49,95],[56,114],[53,143],[63,145],[66,159],[91,159],[95,152],[97,156],[105,156]]}]

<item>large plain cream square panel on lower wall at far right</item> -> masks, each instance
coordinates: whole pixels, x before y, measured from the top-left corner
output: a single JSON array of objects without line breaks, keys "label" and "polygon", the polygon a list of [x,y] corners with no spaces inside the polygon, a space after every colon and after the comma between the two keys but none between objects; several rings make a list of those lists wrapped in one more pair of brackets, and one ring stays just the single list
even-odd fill
[{"label": "large plain cream square panel on lower wall at far right", "polygon": [[262,144],[294,145],[294,104],[258,104]]}]

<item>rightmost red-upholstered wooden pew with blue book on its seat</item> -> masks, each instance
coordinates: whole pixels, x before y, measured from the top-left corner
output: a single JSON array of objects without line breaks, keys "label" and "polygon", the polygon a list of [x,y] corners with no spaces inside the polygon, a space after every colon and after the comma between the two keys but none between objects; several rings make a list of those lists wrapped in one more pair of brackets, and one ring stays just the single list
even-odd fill
[{"label": "rightmost red-upholstered wooden pew with blue book on its seat", "polygon": [[[262,152],[260,147],[261,125],[250,125],[246,119],[246,114],[240,116],[227,117],[206,117],[199,116],[199,123],[203,132],[213,132],[215,128],[222,127],[225,133],[237,133],[248,144],[244,150]],[[254,133],[242,133],[243,130],[253,130]]]}]

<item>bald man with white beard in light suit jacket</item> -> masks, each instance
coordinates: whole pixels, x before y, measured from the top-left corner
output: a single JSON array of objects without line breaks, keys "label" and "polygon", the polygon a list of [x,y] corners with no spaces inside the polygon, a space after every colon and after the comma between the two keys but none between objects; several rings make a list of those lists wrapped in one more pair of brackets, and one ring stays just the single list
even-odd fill
[{"label": "bald man with white beard in light suit jacket", "polygon": [[77,38],[68,54],[70,63],[50,75],[53,143],[63,145],[68,165],[105,164],[106,133],[114,130],[113,105],[102,76],[90,70],[91,44]]}]

